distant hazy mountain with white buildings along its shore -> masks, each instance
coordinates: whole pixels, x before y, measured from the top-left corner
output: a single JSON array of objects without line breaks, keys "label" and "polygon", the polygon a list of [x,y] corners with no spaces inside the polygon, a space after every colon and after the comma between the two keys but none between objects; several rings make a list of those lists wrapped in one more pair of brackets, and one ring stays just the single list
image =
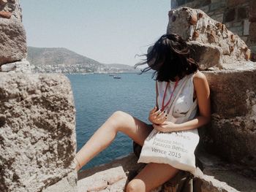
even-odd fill
[{"label": "distant hazy mountain with white buildings along its shore", "polygon": [[28,47],[27,60],[34,72],[62,73],[116,73],[138,72],[133,66],[123,64],[101,64],[94,59],[79,55],[63,47]]}]

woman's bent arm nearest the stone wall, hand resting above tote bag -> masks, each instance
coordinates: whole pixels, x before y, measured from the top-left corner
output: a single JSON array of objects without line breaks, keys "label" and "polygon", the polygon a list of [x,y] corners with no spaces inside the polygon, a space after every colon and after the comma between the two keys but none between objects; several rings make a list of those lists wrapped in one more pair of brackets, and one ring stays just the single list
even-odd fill
[{"label": "woman's bent arm nearest the stone wall, hand resting above tote bag", "polygon": [[206,125],[211,120],[210,88],[206,76],[202,72],[197,72],[193,79],[195,93],[199,107],[199,115],[193,120],[176,124],[165,121],[160,125],[153,124],[154,128],[162,132],[184,131]]}]

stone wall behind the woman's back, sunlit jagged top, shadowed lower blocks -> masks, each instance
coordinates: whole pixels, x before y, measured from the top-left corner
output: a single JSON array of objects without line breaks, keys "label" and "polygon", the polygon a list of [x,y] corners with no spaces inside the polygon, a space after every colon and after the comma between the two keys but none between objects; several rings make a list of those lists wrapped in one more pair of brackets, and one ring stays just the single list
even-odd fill
[{"label": "stone wall behind the woman's back, sunlit jagged top, shadowed lower blocks", "polygon": [[230,162],[256,167],[256,63],[246,56],[249,48],[200,9],[180,7],[169,17],[167,33],[187,40],[211,89],[212,119],[207,128],[199,128],[200,146]]}]

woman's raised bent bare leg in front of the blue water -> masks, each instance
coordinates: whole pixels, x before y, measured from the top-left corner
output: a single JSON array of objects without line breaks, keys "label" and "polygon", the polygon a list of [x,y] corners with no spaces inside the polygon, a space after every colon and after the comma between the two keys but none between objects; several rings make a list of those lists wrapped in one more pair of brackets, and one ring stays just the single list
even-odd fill
[{"label": "woman's raised bent bare leg in front of the blue water", "polygon": [[126,112],[117,111],[106,120],[105,123],[86,142],[86,145],[75,155],[76,170],[87,164],[91,158],[104,150],[115,139],[118,131],[127,134],[139,145],[143,145],[144,140],[152,131],[153,127],[144,123]]}]

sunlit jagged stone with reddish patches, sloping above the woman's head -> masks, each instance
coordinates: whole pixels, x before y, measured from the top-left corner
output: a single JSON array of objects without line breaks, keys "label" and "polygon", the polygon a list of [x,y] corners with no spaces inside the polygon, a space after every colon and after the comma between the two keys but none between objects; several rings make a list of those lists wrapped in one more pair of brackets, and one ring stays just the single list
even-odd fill
[{"label": "sunlit jagged stone with reddish patches, sloping above the woman's head", "polygon": [[[208,17],[200,9],[180,7],[178,9],[172,9],[171,12],[167,34],[180,34],[187,42],[197,41],[205,44],[205,46],[212,45],[219,47],[222,55],[220,55],[221,60],[216,66],[233,64],[236,60],[249,60],[250,50],[245,42],[238,35],[227,30],[224,24]],[[233,26],[230,29],[239,35],[242,35],[244,31],[243,26]]]}]

